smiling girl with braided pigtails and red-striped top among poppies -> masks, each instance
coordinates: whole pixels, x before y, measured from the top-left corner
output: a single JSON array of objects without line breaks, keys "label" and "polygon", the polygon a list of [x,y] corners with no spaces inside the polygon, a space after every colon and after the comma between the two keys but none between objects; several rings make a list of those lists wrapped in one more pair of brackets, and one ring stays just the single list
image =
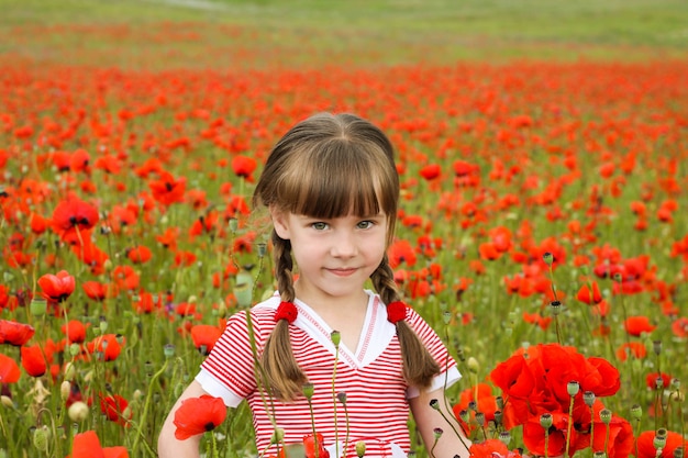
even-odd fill
[{"label": "smiling girl with braided pigtails and red-striped top among poppies", "polygon": [[278,292],[249,316],[230,317],[163,426],[160,457],[199,456],[200,436],[176,440],[173,422],[184,400],[201,394],[231,407],[246,400],[258,450],[269,455],[281,446],[276,428],[284,444],[299,444],[314,422],[331,458],[355,457],[357,443],[366,457],[406,457],[410,409],[435,458],[468,456],[443,402],[460,377],[456,364],[400,302],[387,260],[398,200],[393,148],[368,121],[322,113],[287,132],[253,198],[271,216]]}]

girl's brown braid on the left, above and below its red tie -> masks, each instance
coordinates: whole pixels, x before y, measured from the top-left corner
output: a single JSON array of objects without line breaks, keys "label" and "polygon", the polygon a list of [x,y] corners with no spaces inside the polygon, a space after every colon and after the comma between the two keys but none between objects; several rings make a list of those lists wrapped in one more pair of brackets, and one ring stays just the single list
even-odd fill
[{"label": "girl's brown braid on the left, above and below its red tie", "polygon": [[[277,284],[282,301],[292,302],[295,299],[291,269],[291,245],[289,241],[279,238],[273,232],[274,256],[277,271]],[[292,401],[299,395],[308,378],[299,367],[289,337],[289,322],[279,320],[273,333],[265,343],[263,350],[263,367],[267,376],[268,386],[275,395],[284,401]]]}]

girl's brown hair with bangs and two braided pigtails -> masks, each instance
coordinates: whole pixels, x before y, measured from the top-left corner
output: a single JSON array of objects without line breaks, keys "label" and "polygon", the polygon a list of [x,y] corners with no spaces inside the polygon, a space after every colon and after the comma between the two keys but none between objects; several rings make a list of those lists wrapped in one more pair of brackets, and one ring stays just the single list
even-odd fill
[{"label": "girl's brown hair with bangs and two braided pigtails", "polygon": [[[389,138],[370,122],[346,113],[319,113],[291,127],[270,152],[253,196],[254,206],[322,219],[381,211],[388,217],[388,245],[398,202],[399,176]],[[277,288],[282,301],[293,302],[291,243],[275,230],[271,241]],[[387,256],[370,280],[385,303],[400,299]],[[397,323],[397,335],[404,377],[428,387],[440,366],[406,321]],[[266,342],[262,362],[278,398],[290,401],[301,393],[308,379],[291,351],[286,320]]]}]

